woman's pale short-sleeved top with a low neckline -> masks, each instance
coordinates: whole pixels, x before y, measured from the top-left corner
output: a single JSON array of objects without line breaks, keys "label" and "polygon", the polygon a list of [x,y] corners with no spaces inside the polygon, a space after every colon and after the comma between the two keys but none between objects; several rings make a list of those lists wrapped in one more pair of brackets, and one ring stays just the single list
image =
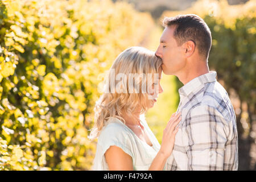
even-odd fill
[{"label": "woman's pale short-sleeved top with a low neckline", "polygon": [[[120,147],[126,154],[130,155],[133,159],[134,170],[146,171],[150,168],[152,161],[160,149],[160,144],[148,127],[143,115],[141,115],[140,119],[152,146],[139,139],[121,120],[111,117],[98,137],[92,170],[109,170],[104,154],[110,146]],[[164,169],[166,169],[166,166],[164,166]]]}]

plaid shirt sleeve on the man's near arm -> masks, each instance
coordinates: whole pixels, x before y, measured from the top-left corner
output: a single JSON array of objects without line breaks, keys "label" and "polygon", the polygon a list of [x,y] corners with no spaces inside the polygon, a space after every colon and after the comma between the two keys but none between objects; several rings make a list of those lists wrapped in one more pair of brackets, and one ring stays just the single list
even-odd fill
[{"label": "plaid shirt sleeve on the man's near arm", "polygon": [[185,118],[188,170],[223,170],[228,123],[213,107],[196,106]]}]

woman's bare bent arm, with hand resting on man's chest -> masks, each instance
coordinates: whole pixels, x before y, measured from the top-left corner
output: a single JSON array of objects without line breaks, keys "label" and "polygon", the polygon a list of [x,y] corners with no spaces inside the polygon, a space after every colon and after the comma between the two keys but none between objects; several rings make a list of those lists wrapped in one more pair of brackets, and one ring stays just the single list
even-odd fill
[{"label": "woman's bare bent arm, with hand resting on man's chest", "polygon": [[[167,158],[171,155],[174,148],[175,135],[178,128],[175,129],[180,122],[180,113],[175,116],[172,114],[166,129],[163,131],[162,145],[158,154],[156,154],[150,168],[148,170],[163,170]],[[132,171],[133,159],[117,146],[110,146],[105,152],[106,163],[110,171]]]}]

